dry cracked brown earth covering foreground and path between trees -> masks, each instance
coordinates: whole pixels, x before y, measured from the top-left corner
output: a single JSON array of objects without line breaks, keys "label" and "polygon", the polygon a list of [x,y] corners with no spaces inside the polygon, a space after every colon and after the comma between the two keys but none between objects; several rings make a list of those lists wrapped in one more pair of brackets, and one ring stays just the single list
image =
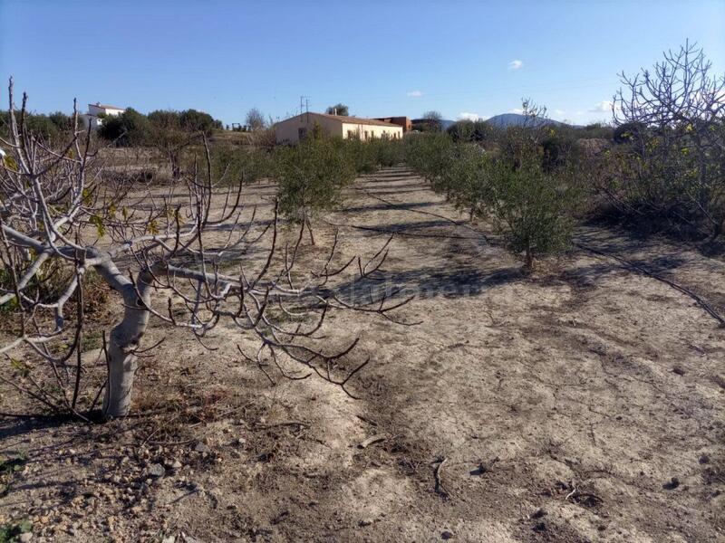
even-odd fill
[{"label": "dry cracked brown earth covering foreground and path between trees", "polygon": [[[270,213],[273,186],[247,194]],[[522,276],[488,224],[402,169],[358,180],[323,218],[318,246],[336,224],[341,262],[396,232],[385,281],[368,287],[417,295],[399,312],[416,326],[326,323],[331,346],[359,336],[354,356],[372,357],[360,399],[314,378],[271,386],[234,329],[210,351],[156,322],[143,416],[3,419],[2,453],[24,463],[0,521],[81,542],[725,538],[725,329],[691,297],[582,250]],[[722,260],[593,226],[577,242],[725,310]],[[38,408],[4,387],[0,410]]]}]

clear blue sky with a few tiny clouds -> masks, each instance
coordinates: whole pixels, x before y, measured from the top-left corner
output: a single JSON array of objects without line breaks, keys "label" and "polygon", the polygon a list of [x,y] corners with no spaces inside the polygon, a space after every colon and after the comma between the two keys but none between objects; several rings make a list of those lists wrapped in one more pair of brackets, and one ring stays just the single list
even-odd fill
[{"label": "clear blue sky with a few tiny clouds", "polygon": [[459,119],[530,97],[585,123],[610,117],[619,71],[687,38],[725,71],[725,1],[0,0],[0,77],[43,112],[77,98],[231,123],[251,107],[284,118],[304,95]]}]

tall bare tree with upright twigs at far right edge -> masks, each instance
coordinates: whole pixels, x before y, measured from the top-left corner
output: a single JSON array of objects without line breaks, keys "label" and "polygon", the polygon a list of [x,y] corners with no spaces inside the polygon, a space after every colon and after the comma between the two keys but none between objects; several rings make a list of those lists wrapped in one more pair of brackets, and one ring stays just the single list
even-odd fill
[{"label": "tall bare tree with upright twigs at far right edge", "polygon": [[634,127],[627,136],[646,171],[648,205],[676,210],[682,196],[710,224],[713,237],[725,228],[725,74],[689,41],[665,52],[653,71],[621,74],[623,89],[614,95],[618,126]]}]

